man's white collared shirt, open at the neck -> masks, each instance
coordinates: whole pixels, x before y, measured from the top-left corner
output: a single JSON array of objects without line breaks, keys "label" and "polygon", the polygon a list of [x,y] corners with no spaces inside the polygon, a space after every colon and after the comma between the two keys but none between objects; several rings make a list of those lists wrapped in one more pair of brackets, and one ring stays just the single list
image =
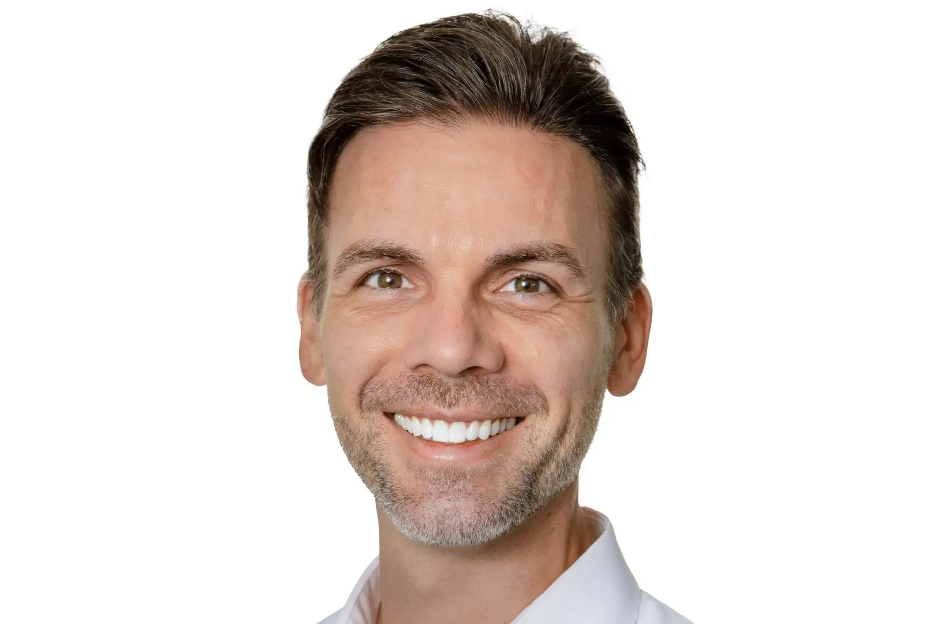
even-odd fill
[{"label": "man's white collared shirt, open at the neck", "polygon": [[[691,624],[637,587],[611,522],[597,511],[594,514],[601,535],[512,624]],[[376,557],[347,604],[320,624],[376,624],[380,602]]]}]

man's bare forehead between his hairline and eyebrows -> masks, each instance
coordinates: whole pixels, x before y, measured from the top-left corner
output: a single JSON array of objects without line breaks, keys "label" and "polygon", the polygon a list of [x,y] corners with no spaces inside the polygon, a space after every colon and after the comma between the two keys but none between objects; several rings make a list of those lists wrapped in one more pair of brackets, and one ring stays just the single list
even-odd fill
[{"label": "man's bare forehead between his hairline and eyebrows", "polygon": [[589,264],[605,237],[600,188],[583,146],[534,130],[363,129],[336,166],[328,255],[366,237],[447,254],[537,240],[571,246]]}]

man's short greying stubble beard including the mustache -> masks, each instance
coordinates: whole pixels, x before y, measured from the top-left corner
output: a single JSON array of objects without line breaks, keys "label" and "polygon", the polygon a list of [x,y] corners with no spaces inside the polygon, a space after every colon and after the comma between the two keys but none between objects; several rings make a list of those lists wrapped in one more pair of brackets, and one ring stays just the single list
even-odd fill
[{"label": "man's short greying stubble beard including the mustache", "polygon": [[[361,416],[355,418],[333,397],[329,400],[336,434],[350,465],[392,525],[423,544],[475,546],[514,529],[576,480],[595,436],[604,396],[604,384],[594,385],[579,414],[565,415],[549,441],[542,435],[551,415],[540,390],[501,380],[411,375],[391,384],[370,383],[361,393]],[[525,444],[517,449],[520,456],[500,456],[481,470],[412,468],[412,480],[405,483],[388,461],[379,427],[364,422],[384,417],[371,408],[386,404],[494,406],[489,410],[494,414],[533,409],[524,412],[528,417],[521,426],[528,429],[523,432]]]}]

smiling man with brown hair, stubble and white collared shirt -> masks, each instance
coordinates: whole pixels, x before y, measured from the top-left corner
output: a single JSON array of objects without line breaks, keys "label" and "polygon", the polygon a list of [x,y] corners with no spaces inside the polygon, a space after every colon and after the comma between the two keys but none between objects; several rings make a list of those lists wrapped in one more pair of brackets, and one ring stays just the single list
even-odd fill
[{"label": "smiling man with brown hair, stubble and white collared shirt", "polygon": [[301,369],[375,495],[328,624],[687,622],[577,500],[644,366],[635,135],[596,60],[488,12],[395,34],[308,157]]}]

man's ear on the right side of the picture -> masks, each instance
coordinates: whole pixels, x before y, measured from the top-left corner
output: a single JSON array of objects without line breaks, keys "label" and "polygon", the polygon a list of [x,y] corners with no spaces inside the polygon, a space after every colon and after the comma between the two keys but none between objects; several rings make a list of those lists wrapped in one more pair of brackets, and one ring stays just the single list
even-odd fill
[{"label": "man's ear on the right side of the picture", "polygon": [[641,284],[634,292],[634,301],[628,305],[624,319],[619,321],[615,330],[608,388],[616,397],[624,397],[637,386],[647,359],[652,316],[651,292]]}]

